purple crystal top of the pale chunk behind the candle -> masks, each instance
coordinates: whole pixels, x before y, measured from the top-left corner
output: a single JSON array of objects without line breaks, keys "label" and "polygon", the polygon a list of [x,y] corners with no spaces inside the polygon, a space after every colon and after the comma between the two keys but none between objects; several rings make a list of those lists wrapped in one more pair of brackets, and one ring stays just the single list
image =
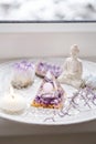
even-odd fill
[{"label": "purple crystal top of the pale chunk behind the candle", "polygon": [[14,69],[17,70],[22,70],[22,71],[26,71],[26,70],[33,70],[34,69],[34,64],[32,62],[29,61],[21,61],[18,63],[14,63]]}]

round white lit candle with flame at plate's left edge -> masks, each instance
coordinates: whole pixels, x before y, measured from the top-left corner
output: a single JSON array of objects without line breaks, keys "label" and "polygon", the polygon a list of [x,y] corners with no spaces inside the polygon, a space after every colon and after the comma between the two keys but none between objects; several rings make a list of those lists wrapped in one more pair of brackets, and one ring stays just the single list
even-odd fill
[{"label": "round white lit candle with flame at plate's left edge", "polygon": [[10,88],[10,93],[2,97],[0,107],[8,113],[22,112],[26,107],[26,102],[24,97],[13,92],[13,88]]}]

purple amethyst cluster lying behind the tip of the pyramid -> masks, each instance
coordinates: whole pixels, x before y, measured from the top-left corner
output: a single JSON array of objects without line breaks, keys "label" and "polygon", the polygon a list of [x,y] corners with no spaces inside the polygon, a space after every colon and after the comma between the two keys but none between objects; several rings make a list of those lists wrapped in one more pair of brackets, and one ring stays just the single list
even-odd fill
[{"label": "purple amethyst cluster lying behind the tip of the pyramid", "polygon": [[62,73],[61,66],[50,64],[46,62],[40,62],[36,68],[36,74],[45,76],[46,72],[50,71],[55,78],[58,78]]}]

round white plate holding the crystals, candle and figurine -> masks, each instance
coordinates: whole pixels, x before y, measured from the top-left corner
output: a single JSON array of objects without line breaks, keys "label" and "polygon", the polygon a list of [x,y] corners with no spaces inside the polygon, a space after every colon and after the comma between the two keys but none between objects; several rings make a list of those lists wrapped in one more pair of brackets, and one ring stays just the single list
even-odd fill
[{"label": "round white plate holding the crystals, candle and figurine", "polygon": [[[35,60],[31,60],[35,61]],[[52,63],[62,64],[64,59],[47,59],[46,61]],[[9,80],[11,78],[11,68],[14,61],[3,63],[0,65],[0,97],[3,96],[4,92],[9,89]],[[95,74],[96,73],[96,63],[83,61],[84,74]],[[62,125],[62,124],[73,124],[81,123],[85,121],[90,121],[96,119],[96,106],[89,109],[87,106],[83,106],[82,102],[81,112],[76,109],[72,109],[70,115],[64,115],[60,110],[49,110],[49,109],[36,109],[30,106],[30,103],[34,99],[36,91],[41,84],[42,80],[35,76],[34,83],[32,86],[23,90],[15,90],[17,93],[21,94],[26,99],[28,109],[22,114],[7,114],[0,110],[0,116],[3,119],[8,119],[11,121],[17,121],[21,123],[28,124],[42,124],[42,125]],[[76,90],[68,85],[62,85],[67,94],[67,99],[73,95],[73,92]],[[66,99],[66,100],[67,100]],[[64,105],[67,105],[64,103]],[[67,106],[64,106],[63,111],[65,111]]]}]

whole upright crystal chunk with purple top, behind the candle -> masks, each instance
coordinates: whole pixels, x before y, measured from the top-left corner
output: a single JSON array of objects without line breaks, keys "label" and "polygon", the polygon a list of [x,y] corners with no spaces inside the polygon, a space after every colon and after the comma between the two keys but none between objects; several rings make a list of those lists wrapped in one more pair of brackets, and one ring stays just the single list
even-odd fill
[{"label": "whole upright crystal chunk with purple top, behind the candle", "polygon": [[12,85],[17,89],[26,88],[32,84],[35,75],[35,65],[29,61],[13,64]]}]

